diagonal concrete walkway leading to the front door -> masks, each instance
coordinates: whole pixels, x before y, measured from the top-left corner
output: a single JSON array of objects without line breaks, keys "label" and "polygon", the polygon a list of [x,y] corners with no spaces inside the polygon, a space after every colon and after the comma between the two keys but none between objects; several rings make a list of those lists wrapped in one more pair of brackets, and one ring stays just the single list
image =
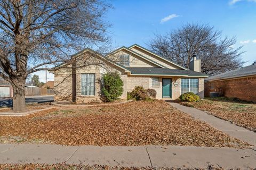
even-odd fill
[{"label": "diagonal concrete walkway leading to the front door", "polygon": [[171,106],[180,109],[180,111],[185,112],[195,118],[198,118],[201,121],[207,122],[212,125],[214,128],[221,130],[229,134],[231,137],[235,137],[251,145],[256,146],[256,133],[250,130],[247,130],[241,126],[237,126],[228,121],[222,120],[213,115],[207,114],[203,111],[200,111],[193,107],[187,107],[180,105],[178,103],[169,103]]}]

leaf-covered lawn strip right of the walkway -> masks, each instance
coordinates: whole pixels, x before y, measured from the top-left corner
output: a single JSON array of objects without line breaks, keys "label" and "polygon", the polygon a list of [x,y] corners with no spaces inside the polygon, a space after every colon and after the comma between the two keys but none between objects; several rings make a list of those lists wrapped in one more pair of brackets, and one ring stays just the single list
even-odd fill
[{"label": "leaf-covered lawn strip right of the walkway", "polygon": [[228,100],[204,99],[196,103],[181,103],[195,107],[223,120],[233,122],[239,126],[256,132],[256,104],[232,102]]}]

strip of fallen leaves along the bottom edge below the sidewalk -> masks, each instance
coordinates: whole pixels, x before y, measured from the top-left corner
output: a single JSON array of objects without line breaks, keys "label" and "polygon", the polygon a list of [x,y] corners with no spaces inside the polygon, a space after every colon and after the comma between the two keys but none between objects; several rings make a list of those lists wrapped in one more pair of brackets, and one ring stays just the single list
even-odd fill
[{"label": "strip of fallen leaves along the bottom edge below the sidewalk", "polygon": [[[65,163],[47,165],[47,164],[0,164],[0,170],[52,170],[52,169],[84,169],[84,170],[203,170],[203,168],[172,168],[172,167],[120,167],[120,166],[107,166],[107,165],[69,165]],[[209,170],[222,170],[223,168],[209,165],[206,169]]]}]

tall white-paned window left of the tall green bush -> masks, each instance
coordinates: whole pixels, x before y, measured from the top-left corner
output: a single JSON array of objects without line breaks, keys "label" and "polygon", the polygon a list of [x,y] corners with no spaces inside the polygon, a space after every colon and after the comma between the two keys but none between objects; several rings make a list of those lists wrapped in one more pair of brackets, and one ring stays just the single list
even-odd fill
[{"label": "tall white-paned window left of the tall green bush", "polygon": [[81,74],[81,94],[85,96],[95,95],[95,74]]}]

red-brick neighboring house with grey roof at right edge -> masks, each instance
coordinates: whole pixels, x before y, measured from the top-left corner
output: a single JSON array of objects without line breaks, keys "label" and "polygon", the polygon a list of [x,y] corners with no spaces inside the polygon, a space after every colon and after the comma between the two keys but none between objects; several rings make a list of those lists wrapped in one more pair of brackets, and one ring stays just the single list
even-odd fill
[{"label": "red-brick neighboring house with grey roof at right edge", "polygon": [[217,92],[220,96],[256,102],[256,65],[206,78],[204,86],[206,97]]}]

